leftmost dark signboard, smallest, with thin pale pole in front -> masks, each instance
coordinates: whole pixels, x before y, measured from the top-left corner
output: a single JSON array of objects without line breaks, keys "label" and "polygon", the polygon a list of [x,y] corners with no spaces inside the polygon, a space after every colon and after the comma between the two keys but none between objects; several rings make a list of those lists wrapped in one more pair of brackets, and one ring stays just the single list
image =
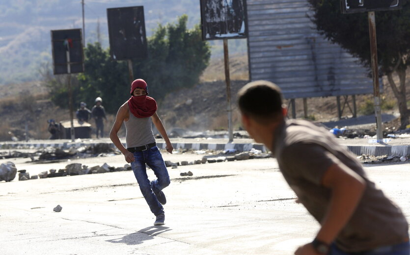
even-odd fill
[{"label": "leftmost dark signboard, smallest, with thin pale pole in front", "polygon": [[80,28],[51,30],[51,46],[55,75],[84,72]]}]

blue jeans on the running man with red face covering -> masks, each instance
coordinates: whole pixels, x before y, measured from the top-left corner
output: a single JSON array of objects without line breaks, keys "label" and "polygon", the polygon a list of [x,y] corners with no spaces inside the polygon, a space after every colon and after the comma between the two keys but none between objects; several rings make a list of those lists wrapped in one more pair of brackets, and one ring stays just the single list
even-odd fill
[{"label": "blue jeans on the running man with red face covering", "polygon": [[[151,212],[154,213],[155,216],[160,215],[164,213],[164,207],[158,202],[154,191],[159,192],[170,183],[164,159],[157,146],[142,152],[135,152],[134,157],[135,160],[131,162],[131,167],[134,171],[135,178],[137,178],[142,196],[144,196]],[[157,177],[156,180],[149,181],[145,164],[154,171]]]}]

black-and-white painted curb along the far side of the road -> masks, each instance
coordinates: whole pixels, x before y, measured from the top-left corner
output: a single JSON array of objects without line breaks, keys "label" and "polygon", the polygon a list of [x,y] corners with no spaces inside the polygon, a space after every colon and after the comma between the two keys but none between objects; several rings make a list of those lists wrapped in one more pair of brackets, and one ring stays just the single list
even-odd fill
[{"label": "black-and-white painted curb along the far side of the road", "polygon": [[[6,142],[1,143],[1,149],[21,149],[21,148],[29,148],[29,149],[37,149],[37,148],[45,148],[45,147],[56,147],[60,149],[69,149],[71,147],[82,147],[82,146],[95,146],[96,144],[100,143],[75,143],[75,142],[63,142],[63,143],[29,143],[29,142]],[[123,143],[125,146],[125,143]],[[109,143],[109,146],[115,148],[114,144]],[[165,149],[164,142],[157,142],[157,146],[160,149]],[[174,149],[192,149],[192,150],[216,150],[216,151],[223,151],[229,149],[235,149],[238,152],[246,152],[250,151],[252,148],[255,150],[262,151],[263,153],[267,153],[268,150],[263,144],[256,144],[256,143],[172,143]],[[355,155],[362,155],[362,154],[369,154],[374,156],[410,156],[410,145],[385,145],[385,146],[362,146],[362,145],[347,145],[346,146],[349,151],[354,153]]]}]

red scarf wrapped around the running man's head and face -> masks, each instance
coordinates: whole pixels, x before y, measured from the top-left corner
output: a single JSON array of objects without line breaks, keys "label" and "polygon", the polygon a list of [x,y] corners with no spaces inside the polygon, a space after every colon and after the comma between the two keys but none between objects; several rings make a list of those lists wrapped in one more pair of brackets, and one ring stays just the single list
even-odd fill
[{"label": "red scarf wrapped around the running man's head and face", "polygon": [[133,92],[136,88],[141,88],[145,90],[148,95],[147,83],[143,79],[136,79],[131,84],[131,98],[128,100],[128,106],[130,111],[137,118],[147,118],[151,117],[157,111],[157,102],[155,99],[143,96],[133,96]]}]

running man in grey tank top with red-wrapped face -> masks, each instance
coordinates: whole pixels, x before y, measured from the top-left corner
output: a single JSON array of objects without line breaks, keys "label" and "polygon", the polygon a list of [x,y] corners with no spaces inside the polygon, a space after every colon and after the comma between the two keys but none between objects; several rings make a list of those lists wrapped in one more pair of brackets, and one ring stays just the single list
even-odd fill
[{"label": "running man in grey tank top with red-wrapped face", "polygon": [[[121,105],[117,112],[109,138],[124,154],[125,160],[131,163],[139,189],[151,212],[156,216],[154,225],[164,225],[165,215],[162,204],[166,203],[166,199],[162,190],[169,185],[170,179],[163,157],[156,145],[151,123],[154,123],[164,138],[166,151],[172,153],[173,147],[158,117],[157,103],[147,96],[147,83],[143,79],[134,80],[130,93],[131,98]],[[126,128],[127,149],[117,135],[123,123]],[[156,180],[149,181],[145,164],[154,171]]]}]

